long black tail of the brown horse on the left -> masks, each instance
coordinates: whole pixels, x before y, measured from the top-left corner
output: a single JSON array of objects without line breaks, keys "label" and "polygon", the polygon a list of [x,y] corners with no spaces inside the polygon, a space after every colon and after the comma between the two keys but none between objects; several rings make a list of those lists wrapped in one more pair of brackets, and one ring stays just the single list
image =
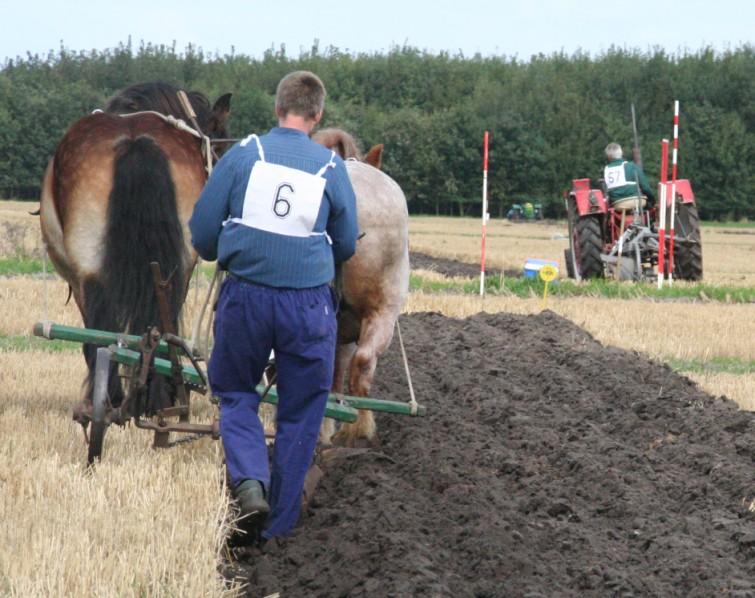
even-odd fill
[{"label": "long black tail of the brown horse on the left", "polygon": [[[86,326],[137,335],[159,326],[149,266],[158,262],[163,277],[171,277],[168,299],[175,328],[185,290],[183,229],[168,158],[149,137],[125,139],[115,147],[103,251],[100,275],[84,287]],[[88,352],[91,348],[85,355],[93,362]],[[117,405],[120,383],[117,376],[110,379],[110,399]]]}]

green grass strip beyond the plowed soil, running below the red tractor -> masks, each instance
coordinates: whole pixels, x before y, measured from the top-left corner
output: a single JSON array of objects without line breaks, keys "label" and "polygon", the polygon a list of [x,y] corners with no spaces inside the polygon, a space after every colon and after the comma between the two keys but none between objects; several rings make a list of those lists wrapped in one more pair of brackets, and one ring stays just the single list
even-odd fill
[{"label": "green grass strip beyond the plowed soil, running below the red tractor", "polygon": [[[485,290],[491,294],[513,295],[527,298],[542,296],[543,281],[539,278],[505,277],[503,281],[495,274],[486,277]],[[426,293],[462,293],[475,295],[480,291],[480,283],[470,278],[459,280],[427,280],[412,274],[409,281],[412,291]],[[607,299],[690,299],[698,301],[718,301],[722,303],[753,303],[755,288],[735,286],[714,286],[704,283],[678,283],[658,289],[653,283],[628,283],[615,280],[592,279],[582,282],[559,280],[550,285],[549,295],[556,297],[604,297]]]}]

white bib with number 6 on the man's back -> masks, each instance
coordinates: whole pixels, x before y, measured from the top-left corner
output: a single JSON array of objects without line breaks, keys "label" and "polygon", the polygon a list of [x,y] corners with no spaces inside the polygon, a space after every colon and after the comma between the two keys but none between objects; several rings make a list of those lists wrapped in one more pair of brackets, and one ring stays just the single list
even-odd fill
[{"label": "white bib with number 6 on the man's back", "polygon": [[[325,191],[322,175],[329,167],[335,166],[335,154],[331,154],[331,161],[317,174],[310,174],[265,162],[259,139],[256,135],[251,137],[257,141],[260,159],[249,176],[241,218],[231,218],[231,222],[287,237],[322,234],[313,232]],[[245,144],[242,142],[242,145]]]}]

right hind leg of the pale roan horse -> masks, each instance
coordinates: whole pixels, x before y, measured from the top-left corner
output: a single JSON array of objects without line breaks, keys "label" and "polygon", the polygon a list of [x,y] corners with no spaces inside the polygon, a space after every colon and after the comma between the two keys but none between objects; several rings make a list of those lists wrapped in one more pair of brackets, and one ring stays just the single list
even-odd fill
[{"label": "right hind leg of the pale roan horse", "polygon": [[[388,348],[393,338],[396,318],[393,314],[379,312],[362,321],[359,344],[349,367],[349,392],[358,397],[370,393],[375,376],[377,360]],[[336,444],[343,446],[375,446],[378,443],[375,417],[372,411],[359,411],[357,421],[344,424],[333,437]]]}]

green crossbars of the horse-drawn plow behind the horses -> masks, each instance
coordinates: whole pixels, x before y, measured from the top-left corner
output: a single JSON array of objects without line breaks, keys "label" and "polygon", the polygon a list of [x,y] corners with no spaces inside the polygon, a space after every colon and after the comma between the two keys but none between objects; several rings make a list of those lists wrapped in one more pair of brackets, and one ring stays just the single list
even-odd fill
[{"label": "green crossbars of the horse-drawn plow behind the horses", "polygon": [[[75,343],[89,343],[101,347],[111,345],[113,361],[124,365],[136,366],[141,363],[141,354],[139,353],[139,341],[141,337],[129,334],[118,334],[115,332],[105,332],[102,330],[93,330],[91,328],[78,328],[75,326],[63,326],[61,324],[37,322],[33,329],[34,335],[47,339],[58,339],[71,341]],[[157,347],[159,355],[168,354],[168,345],[165,341],[160,341]],[[171,364],[167,359],[155,357],[155,370],[157,373],[170,376]],[[183,366],[184,379],[192,384],[202,385],[202,378],[193,366]],[[257,392],[262,394],[265,387],[260,385]],[[275,386],[271,387],[265,398],[266,403],[276,405],[278,403],[278,393]],[[384,411],[387,413],[399,413],[402,415],[413,415],[409,403],[400,401],[384,401],[382,399],[371,399],[369,397],[354,397],[350,395],[331,394],[328,397],[328,403],[325,408],[325,417],[331,417],[343,422],[354,422],[357,419],[358,409],[368,409],[370,411]],[[426,413],[424,406],[419,405],[417,413],[414,415],[423,416]]]}]

